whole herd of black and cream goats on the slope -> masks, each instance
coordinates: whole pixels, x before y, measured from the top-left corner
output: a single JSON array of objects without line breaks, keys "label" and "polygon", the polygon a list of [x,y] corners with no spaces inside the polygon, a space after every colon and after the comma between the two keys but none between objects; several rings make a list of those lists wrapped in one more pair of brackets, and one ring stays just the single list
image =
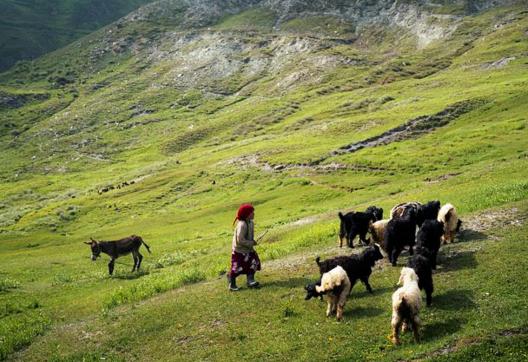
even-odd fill
[{"label": "whole herd of black and cream goats on the slope", "polygon": [[[456,209],[451,204],[440,207],[440,201],[426,204],[407,202],[396,205],[390,212],[390,219],[382,220],[383,209],[370,206],[365,212],[339,213],[341,227],[340,246],[346,241],[354,247],[356,236],[363,244],[370,244],[370,235],[374,241],[361,254],[337,256],[321,261],[316,258],[321,278],[308,284],[306,300],[327,295],[326,315],[336,314],[337,320],[343,317],[343,308],[352,287],[359,279],[372,293],[369,276],[377,260],[386,255],[393,266],[405,247],[409,248],[407,267],[402,268],[398,284],[401,287],[392,295],[392,335],[391,341],[399,344],[400,330],[412,328],[416,342],[419,341],[420,328],[420,290],[425,290],[427,305],[432,302],[433,270],[436,269],[436,257],[440,244],[453,242],[460,230],[462,221],[458,219]],[[418,233],[416,228],[418,227]]]}]

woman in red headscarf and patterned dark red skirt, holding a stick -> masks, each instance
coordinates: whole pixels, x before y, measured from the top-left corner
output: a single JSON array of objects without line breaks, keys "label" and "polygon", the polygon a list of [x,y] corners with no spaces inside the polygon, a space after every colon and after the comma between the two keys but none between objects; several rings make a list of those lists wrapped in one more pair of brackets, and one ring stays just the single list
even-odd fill
[{"label": "woman in red headscarf and patterned dark red skirt, holding a stick", "polygon": [[229,290],[239,290],[236,277],[240,274],[247,275],[249,288],[258,288],[259,282],[255,281],[255,273],[260,270],[260,259],[255,251],[257,245],[254,239],[255,208],[250,204],[243,204],[238,208],[235,221],[235,232],[231,250],[231,270],[229,271]]}]

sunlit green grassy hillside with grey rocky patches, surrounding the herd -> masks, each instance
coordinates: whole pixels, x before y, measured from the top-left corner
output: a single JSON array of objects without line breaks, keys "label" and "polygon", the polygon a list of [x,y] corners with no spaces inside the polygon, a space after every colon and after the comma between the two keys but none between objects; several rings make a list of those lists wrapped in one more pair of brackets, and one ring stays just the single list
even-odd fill
[{"label": "sunlit green grassy hillside with grey rocky patches, surrounding the herd", "polygon": [[[522,360],[526,15],[449,18],[425,47],[334,17],[275,29],[264,8],[188,32],[124,21],[0,74],[0,356]],[[422,344],[386,339],[399,268],[357,285],[344,323],[304,302],[314,256],[349,253],[338,210],[432,199],[466,223]],[[228,294],[242,202],[270,230],[264,287]],[[124,257],[109,278],[82,243],[132,233],[153,251],[137,274]]]}]

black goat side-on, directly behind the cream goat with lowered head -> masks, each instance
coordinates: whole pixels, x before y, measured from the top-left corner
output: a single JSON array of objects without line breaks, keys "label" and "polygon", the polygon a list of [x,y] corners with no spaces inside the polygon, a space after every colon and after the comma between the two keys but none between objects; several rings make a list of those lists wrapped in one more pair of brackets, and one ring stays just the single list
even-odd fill
[{"label": "black goat side-on, directly behind the cream goat with lowered head", "polygon": [[359,279],[365,284],[367,290],[372,293],[368,279],[370,274],[372,274],[372,267],[376,264],[376,260],[383,259],[383,255],[381,255],[379,246],[374,244],[363,250],[361,254],[336,256],[335,258],[324,261],[320,261],[320,259],[320,257],[315,258],[315,262],[319,266],[321,275],[340,265],[345,269],[350,280],[350,291],[352,291],[352,288]]}]

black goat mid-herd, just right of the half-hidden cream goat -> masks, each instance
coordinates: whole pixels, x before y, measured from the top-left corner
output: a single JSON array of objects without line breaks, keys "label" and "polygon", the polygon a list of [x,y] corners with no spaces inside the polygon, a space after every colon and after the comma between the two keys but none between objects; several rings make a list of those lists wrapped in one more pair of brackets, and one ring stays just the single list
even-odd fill
[{"label": "black goat mid-herd, just right of the half-hidden cream goat", "polygon": [[409,208],[400,218],[389,220],[385,227],[383,249],[389,256],[389,261],[396,266],[398,256],[405,246],[409,246],[409,254],[413,255],[416,234],[416,212]]}]

